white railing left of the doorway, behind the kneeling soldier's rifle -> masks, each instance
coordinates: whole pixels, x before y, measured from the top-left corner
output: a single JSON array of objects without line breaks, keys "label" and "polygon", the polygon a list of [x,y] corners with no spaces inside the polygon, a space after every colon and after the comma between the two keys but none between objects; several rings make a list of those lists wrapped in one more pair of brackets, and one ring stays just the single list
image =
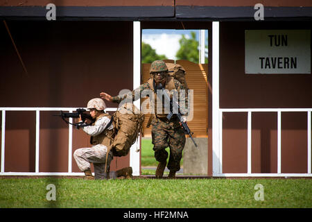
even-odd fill
[{"label": "white railing left of the doorway, behind the kneeling soldier's rifle", "polygon": [[[40,112],[44,111],[67,111],[73,112],[77,108],[0,108],[2,112],[1,123],[1,171],[0,176],[82,176],[83,173],[74,173],[71,171],[72,163],[72,145],[73,145],[73,127],[69,124],[69,146],[68,146],[68,171],[58,172],[40,172],[39,171],[39,152],[40,152]],[[6,150],[6,112],[8,111],[34,111],[36,112],[36,136],[35,136],[35,172],[6,172],[5,171],[5,150]],[[116,111],[116,108],[107,108],[105,111]],[[72,119],[69,118],[69,122]]]}]

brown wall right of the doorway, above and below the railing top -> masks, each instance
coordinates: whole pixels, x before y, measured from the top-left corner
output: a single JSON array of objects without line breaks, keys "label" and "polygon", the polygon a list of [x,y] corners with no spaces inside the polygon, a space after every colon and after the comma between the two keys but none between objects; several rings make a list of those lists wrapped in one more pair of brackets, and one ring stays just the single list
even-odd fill
[{"label": "brown wall right of the doorway, above and below the railing top", "polygon": [[[312,108],[311,74],[245,74],[246,29],[311,22],[221,22],[220,108]],[[307,172],[307,114],[281,113],[281,172]],[[223,115],[223,173],[247,172],[247,113]],[[277,173],[277,114],[252,114],[252,173]]]}]

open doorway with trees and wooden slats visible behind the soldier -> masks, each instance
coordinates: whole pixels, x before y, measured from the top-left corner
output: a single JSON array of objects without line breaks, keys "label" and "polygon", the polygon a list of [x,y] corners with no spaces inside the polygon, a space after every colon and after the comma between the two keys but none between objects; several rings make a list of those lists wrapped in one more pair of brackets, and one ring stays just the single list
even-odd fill
[{"label": "open doorway with trees and wooden slats visible behind the soldier", "polygon": [[[207,175],[207,131],[208,131],[208,31],[177,29],[143,29],[141,37],[141,84],[150,78],[150,64],[154,60],[182,65],[189,89],[193,90],[193,113],[187,124],[196,142],[205,146],[196,149],[187,135],[180,171],[177,176]],[[144,100],[141,100],[141,103]],[[154,157],[151,126],[146,128],[149,119],[144,121],[144,137],[141,138],[141,175],[155,176],[157,160]],[[205,142],[201,140],[204,139]],[[197,148],[198,149],[198,148]],[[204,151],[205,150],[205,151]],[[167,147],[166,151],[170,153]],[[204,153],[202,153],[204,152]],[[196,161],[197,157],[203,158]],[[169,157],[169,155],[168,155]],[[168,162],[168,159],[167,159]],[[164,177],[168,176],[166,167]]]}]

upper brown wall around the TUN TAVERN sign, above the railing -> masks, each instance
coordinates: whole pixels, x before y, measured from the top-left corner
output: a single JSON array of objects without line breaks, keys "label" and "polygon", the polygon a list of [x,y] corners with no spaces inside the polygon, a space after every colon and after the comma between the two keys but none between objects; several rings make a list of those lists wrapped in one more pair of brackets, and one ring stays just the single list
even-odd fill
[{"label": "upper brown wall around the TUN TAVERN sign, above the railing", "polygon": [[311,108],[311,74],[245,74],[245,29],[310,29],[311,24],[221,22],[220,108]]}]

